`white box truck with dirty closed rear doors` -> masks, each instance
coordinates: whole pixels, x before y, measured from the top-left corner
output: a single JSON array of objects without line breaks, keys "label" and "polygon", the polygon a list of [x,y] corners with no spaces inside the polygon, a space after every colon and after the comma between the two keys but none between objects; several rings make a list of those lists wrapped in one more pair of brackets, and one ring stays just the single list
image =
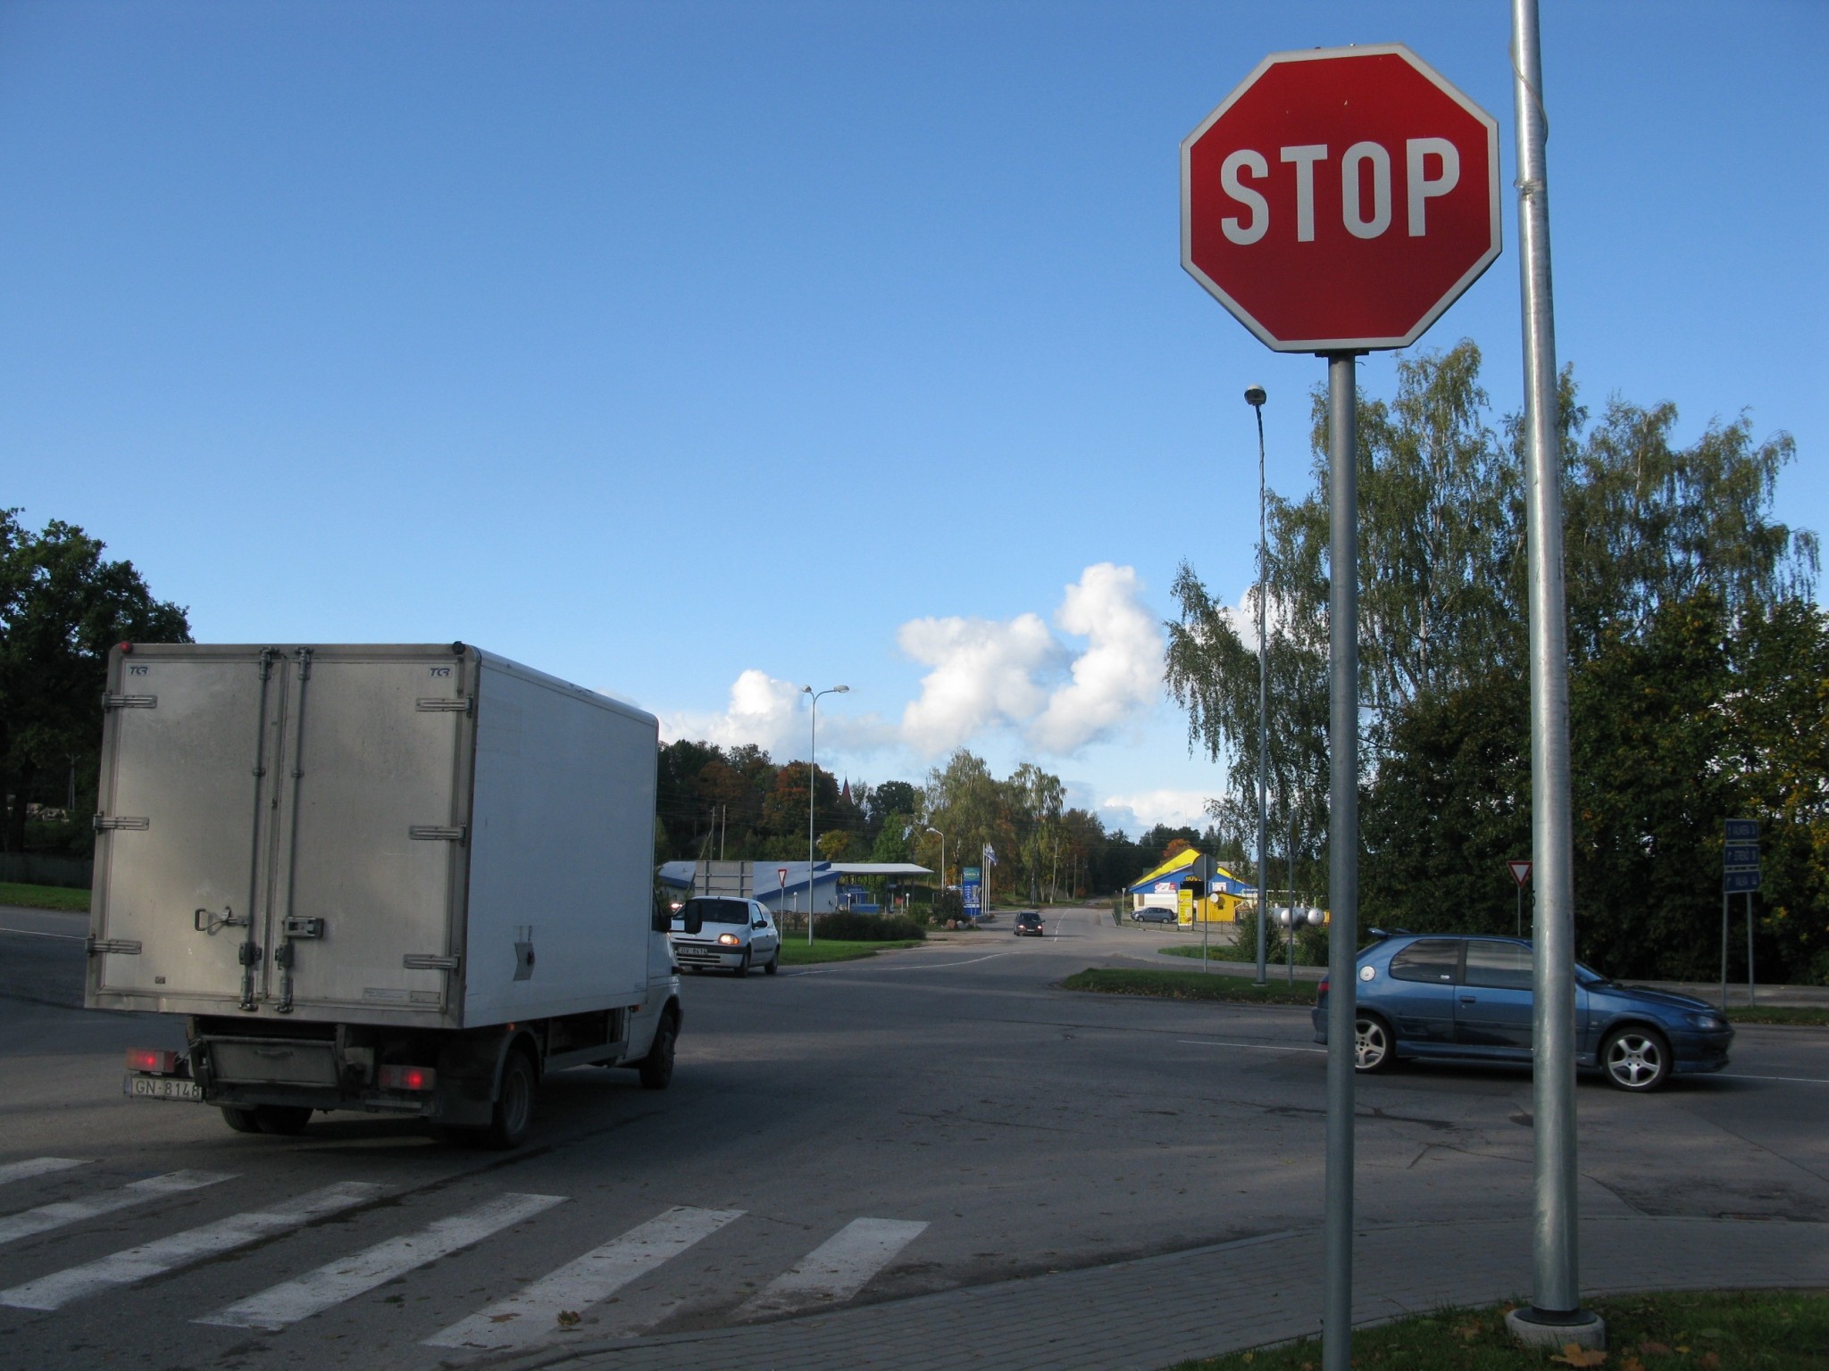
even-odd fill
[{"label": "white box truck with dirty closed rear doors", "polygon": [[653,715],[466,643],[115,647],[86,1002],[188,1027],[126,1093],[516,1146],[547,1071],[664,1088],[655,748]]}]

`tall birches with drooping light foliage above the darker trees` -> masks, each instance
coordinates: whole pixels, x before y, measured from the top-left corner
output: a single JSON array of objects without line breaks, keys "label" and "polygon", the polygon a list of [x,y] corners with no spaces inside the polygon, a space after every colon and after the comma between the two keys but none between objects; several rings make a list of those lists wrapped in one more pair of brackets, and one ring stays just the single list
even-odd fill
[{"label": "tall birches with drooping light foliage above the darker trees", "polygon": [[[1445,696],[1525,675],[1520,424],[1487,419],[1480,351],[1461,342],[1397,366],[1390,404],[1361,397],[1361,775],[1392,764],[1399,737],[1434,739]],[[1814,534],[1772,519],[1789,437],[1754,442],[1745,417],[1670,442],[1674,406],[1615,400],[1591,433],[1573,373],[1560,386],[1571,664],[1642,636],[1661,605],[1717,585],[1730,618],[1807,598]],[[1503,435],[1503,437],[1502,437]],[[1326,406],[1315,395],[1313,490],[1269,503],[1271,834],[1299,834],[1299,881],[1326,890],[1328,503]],[[1194,570],[1172,587],[1167,682],[1189,742],[1227,766],[1209,804],[1225,845],[1257,826],[1257,653]],[[1251,618],[1253,603],[1246,611]],[[1427,718],[1412,729],[1412,709]]]}]

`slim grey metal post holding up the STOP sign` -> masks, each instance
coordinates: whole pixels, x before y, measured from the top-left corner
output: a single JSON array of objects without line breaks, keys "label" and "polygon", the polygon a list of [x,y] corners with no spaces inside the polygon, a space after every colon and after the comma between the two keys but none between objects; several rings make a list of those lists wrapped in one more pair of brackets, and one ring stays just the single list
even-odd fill
[{"label": "slim grey metal post holding up the STOP sign", "polygon": [[1328,353],[1328,1172],[1321,1367],[1353,1355],[1353,1060],[1359,1009],[1359,397]]}]

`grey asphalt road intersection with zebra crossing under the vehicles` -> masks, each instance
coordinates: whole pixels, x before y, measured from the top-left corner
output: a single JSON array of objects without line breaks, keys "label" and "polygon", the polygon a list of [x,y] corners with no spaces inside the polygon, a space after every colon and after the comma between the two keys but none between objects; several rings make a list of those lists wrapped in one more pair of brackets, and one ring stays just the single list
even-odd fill
[{"label": "grey asphalt road intersection with zebra crossing under the vehicles", "polygon": [[[1306,1011],[1061,991],[1169,941],[1096,910],[1044,940],[690,976],[673,1088],[556,1075],[510,1155],[346,1115],[247,1137],[123,1099],[123,1049],[181,1035],[80,1007],[82,923],[0,910],[0,1367],[487,1366],[501,1353],[474,1344],[715,1327],[1321,1221]],[[1525,1073],[1412,1066],[1357,1099],[1364,1223],[1427,1241],[1430,1219],[1529,1212]],[[1743,1029],[1727,1073],[1642,1099],[1584,1080],[1578,1111],[1584,1214],[1829,1219],[1829,1031]],[[80,1164],[26,1174],[40,1157]],[[318,1217],[289,1216],[302,1196]]]}]

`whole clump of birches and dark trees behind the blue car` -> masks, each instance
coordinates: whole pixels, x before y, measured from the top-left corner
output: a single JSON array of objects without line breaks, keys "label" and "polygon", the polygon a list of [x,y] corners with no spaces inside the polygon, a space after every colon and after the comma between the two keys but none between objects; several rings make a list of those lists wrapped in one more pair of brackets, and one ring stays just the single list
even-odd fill
[{"label": "whole clump of birches and dark trees behind the blue car", "polygon": [[[1522,426],[1489,420],[1471,342],[1401,360],[1396,397],[1359,404],[1364,909],[1405,927],[1511,927],[1502,863],[1529,852]],[[1811,625],[1820,632],[1816,536],[1772,517],[1794,444],[1754,439],[1739,415],[1679,446],[1674,406],[1620,399],[1589,428],[1569,371],[1560,420],[1582,945],[1610,958],[1637,947],[1672,974],[1685,949],[1699,956],[1699,910],[1714,905],[1719,918],[1719,819],[1741,808],[1767,817],[1791,854],[1769,868],[1767,934],[1776,945],[1783,923],[1787,956],[1803,965],[1814,958],[1805,941],[1824,936],[1820,857],[1811,866],[1807,854],[1825,839],[1820,793],[1800,777],[1822,775],[1807,770],[1824,746],[1809,720],[1825,687],[1820,671],[1787,673],[1787,662],[1816,660]],[[1321,395],[1313,442],[1313,490],[1269,503],[1267,760],[1271,832],[1295,821],[1308,883],[1324,890]],[[1187,565],[1174,596],[1169,686],[1191,744],[1227,762],[1229,788],[1211,808],[1224,841],[1244,845],[1257,824],[1255,643]],[[1255,618],[1253,601],[1244,609]],[[1770,724],[1778,706],[1759,704],[1778,698],[1798,720],[1791,733]],[[1796,881],[1772,885],[1778,870]]]}]

